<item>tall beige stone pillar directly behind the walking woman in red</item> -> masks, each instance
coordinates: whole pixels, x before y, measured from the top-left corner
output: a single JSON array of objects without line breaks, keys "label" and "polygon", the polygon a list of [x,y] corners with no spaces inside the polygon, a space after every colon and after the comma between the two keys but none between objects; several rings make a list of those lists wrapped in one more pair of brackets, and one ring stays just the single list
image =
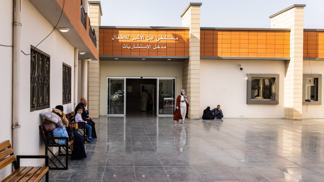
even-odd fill
[{"label": "tall beige stone pillar directly behind the walking woman in red", "polygon": [[200,6],[190,3],[181,14],[182,27],[189,27],[189,59],[183,61],[182,86],[188,96],[189,118],[199,119],[200,95]]}]

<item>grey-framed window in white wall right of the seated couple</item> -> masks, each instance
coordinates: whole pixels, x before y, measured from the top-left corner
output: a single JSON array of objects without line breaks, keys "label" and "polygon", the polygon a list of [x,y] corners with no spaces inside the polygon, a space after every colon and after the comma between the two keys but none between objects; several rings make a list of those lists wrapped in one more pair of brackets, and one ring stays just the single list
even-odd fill
[{"label": "grey-framed window in white wall right of the seated couple", "polygon": [[247,104],[279,104],[279,74],[248,74]]}]

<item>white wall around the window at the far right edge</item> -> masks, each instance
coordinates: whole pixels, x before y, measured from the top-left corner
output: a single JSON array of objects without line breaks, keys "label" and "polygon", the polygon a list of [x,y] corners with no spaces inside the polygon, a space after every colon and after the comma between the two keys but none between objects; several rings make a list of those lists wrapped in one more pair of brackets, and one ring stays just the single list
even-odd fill
[{"label": "white wall around the window at the far right edge", "polygon": [[[303,74],[322,74],[322,105],[303,105],[303,119],[324,118],[324,61],[303,61]],[[303,93],[305,94],[305,93]]]}]

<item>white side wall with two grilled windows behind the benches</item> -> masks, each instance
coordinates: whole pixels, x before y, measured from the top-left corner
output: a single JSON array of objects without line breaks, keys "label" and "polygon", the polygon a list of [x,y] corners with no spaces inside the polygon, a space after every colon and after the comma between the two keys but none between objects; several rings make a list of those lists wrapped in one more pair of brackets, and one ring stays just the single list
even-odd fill
[{"label": "white side wall with two grilled windows behind the benches", "polygon": [[[2,10],[7,11],[7,15],[11,16],[2,16],[4,22],[11,21],[7,24],[8,30],[3,28],[6,31],[6,36],[4,36],[1,41],[5,41],[2,44],[12,44],[12,2],[3,2],[5,5],[2,5]],[[11,9],[11,12],[10,12]],[[8,18],[8,20],[6,20]],[[59,17],[58,17],[59,18]],[[36,46],[41,40],[43,40],[53,29],[53,26],[49,24],[44,17],[39,14],[39,12],[29,3],[29,1],[22,1],[22,11],[21,11],[21,49],[26,54],[30,53],[30,45]],[[5,35],[5,34],[4,34]],[[30,112],[29,103],[30,103],[30,55],[24,55],[21,53],[21,70],[20,70],[20,103],[19,103],[19,113],[18,118],[20,121],[21,128],[19,128],[19,138],[18,145],[19,148],[15,149],[15,155],[44,155],[44,144],[41,140],[39,134],[39,125],[42,123],[42,118],[39,115],[40,112],[50,112],[52,108],[56,105],[62,105],[62,62],[68,64],[72,68],[72,76],[74,75],[74,48],[59,34],[56,30],[52,32],[52,34],[47,37],[38,47],[41,51],[49,54],[51,56],[51,75],[50,75],[50,108],[43,109],[39,111]],[[11,48],[3,48],[1,47],[1,51],[4,53],[7,64],[2,64],[3,70],[1,74],[6,79],[2,83],[2,86],[7,88],[5,92],[2,92],[2,98],[5,102],[2,102],[3,113],[4,116],[11,115],[11,94],[12,94],[12,51]],[[5,84],[5,85],[4,85]],[[72,77],[72,103],[64,104],[64,111],[69,112],[72,111],[73,108],[73,89],[74,79]],[[2,134],[1,140],[11,140],[11,117],[2,119]],[[39,163],[43,163],[43,161],[22,161],[22,165],[39,165]],[[0,176],[1,178],[1,176]]]}]

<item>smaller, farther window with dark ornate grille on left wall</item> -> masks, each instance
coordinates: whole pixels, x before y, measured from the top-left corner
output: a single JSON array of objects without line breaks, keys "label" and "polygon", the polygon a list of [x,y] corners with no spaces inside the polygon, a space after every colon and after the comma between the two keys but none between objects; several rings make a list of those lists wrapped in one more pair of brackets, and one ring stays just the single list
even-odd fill
[{"label": "smaller, farther window with dark ornate grille on left wall", "polygon": [[63,104],[71,103],[71,66],[63,63]]}]

